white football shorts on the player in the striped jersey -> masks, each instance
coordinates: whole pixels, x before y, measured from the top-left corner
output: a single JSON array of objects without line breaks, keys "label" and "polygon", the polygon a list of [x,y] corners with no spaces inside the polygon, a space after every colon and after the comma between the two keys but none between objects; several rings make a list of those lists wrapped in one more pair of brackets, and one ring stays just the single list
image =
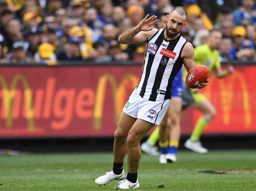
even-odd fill
[{"label": "white football shorts on the player in the striped jersey", "polygon": [[160,125],[170,105],[170,99],[158,102],[148,101],[139,95],[135,89],[122,111],[134,118],[142,119],[152,124]]}]

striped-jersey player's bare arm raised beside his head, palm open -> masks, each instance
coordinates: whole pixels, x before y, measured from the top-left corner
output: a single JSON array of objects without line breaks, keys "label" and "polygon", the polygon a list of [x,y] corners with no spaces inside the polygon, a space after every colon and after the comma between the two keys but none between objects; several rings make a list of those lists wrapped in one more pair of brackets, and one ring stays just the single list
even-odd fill
[{"label": "striped-jersey player's bare arm raised beside his head, palm open", "polygon": [[158,20],[157,16],[149,17],[149,14],[135,27],[124,31],[118,38],[122,44],[140,44],[150,39],[158,29],[151,27]]}]

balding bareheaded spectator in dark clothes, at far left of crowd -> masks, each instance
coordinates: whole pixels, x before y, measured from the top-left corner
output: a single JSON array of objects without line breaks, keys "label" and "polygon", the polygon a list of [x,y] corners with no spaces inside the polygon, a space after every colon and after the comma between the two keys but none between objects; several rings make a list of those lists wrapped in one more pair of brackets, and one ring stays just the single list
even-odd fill
[{"label": "balding bareheaded spectator in dark clothes, at far left of crowd", "polygon": [[13,43],[18,40],[24,40],[21,33],[20,21],[17,19],[11,19],[7,23],[7,36],[5,36],[8,53],[11,52]]}]

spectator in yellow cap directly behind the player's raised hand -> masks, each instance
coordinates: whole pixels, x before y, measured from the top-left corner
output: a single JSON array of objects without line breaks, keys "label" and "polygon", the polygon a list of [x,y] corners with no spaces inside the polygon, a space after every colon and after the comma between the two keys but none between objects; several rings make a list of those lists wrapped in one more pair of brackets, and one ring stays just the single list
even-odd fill
[{"label": "spectator in yellow cap directly behind the player's raised hand", "polygon": [[133,26],[136,26],[143,20],[144,14],[144,9],[140,5],[133,5],[127,10],[127,16],[130,18]]}]

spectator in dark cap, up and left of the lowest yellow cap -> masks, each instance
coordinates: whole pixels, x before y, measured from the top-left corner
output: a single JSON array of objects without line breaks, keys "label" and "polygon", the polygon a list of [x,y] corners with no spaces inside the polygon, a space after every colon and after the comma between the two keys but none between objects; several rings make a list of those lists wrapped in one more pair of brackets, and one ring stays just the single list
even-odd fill
[{"label": "spectator in dark cap, up and left of the lowest yellow cap", "polygon": [[41,31],[38,27],[31,27],[27,33],[27,40],[29,42],[27,56],[30,58],[33,58],[37,52],[37,48],[40,44],[40,33]]}]

